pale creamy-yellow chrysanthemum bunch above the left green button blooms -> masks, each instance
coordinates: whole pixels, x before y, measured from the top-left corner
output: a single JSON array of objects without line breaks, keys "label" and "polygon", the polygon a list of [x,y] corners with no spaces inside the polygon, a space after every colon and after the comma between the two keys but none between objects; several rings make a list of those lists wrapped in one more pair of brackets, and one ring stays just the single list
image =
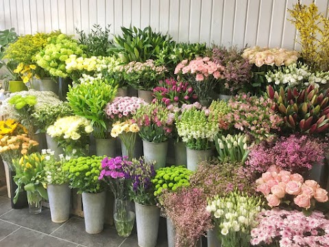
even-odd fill
[{"label": "pale creamy-yellow chrysanthemum bunch above the left green button blooms", "polygon": [[85,156],[88,154],[89,134],[93,132],[91,122],[85,117],[67,116],[58,118],[47,128],[47,134],[62,146],[64,154]]}]

